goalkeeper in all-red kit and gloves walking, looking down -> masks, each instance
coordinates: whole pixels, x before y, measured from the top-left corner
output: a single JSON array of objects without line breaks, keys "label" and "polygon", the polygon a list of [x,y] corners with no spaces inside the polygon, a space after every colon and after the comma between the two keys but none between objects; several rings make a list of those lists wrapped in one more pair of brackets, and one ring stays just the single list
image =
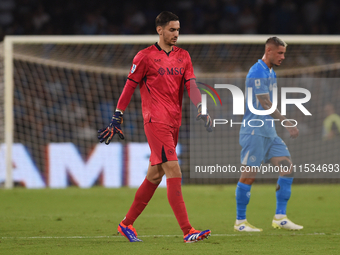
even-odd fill
[{"label": "goalkeeper in all-red kit and gloves walking, looking down", "polygon": [[183,231],[184,242],[191,243],[208,238],[210,230],[195,230],[189,222],[181,192],[182,173],[176,155],[178,131],[182,119],[184,86],[191,101],[197,106],[197,119],[202,119],[206,129],[212,131],[208,114],[201,114],[201,93],[196,83],[191,58],[186,50],[175,46],[179,35],[178,17],[164,11],[156,18],[159,41],[141,50],[133,59],[124,90],[108,127],[99,130],[100,142],[109,144],[117,133],[121,139],[123,113],[137,85],[140,86],[144,130],[150,149],[150,163],[146,178],[138,188],[134,201],[125,218],[118,225],[118,232],[130,242],[140,242],[133,227],[164,174],[167,178],[169,204]]}]

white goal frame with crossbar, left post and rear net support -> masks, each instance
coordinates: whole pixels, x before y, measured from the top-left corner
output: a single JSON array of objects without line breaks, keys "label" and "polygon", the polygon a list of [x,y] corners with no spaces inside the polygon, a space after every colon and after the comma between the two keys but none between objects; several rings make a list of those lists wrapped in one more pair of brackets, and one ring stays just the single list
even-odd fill
[{"label": "white goal frame with crossbar, left post and rear net support", "polygon": [[[264,45],[266,39],[270,35],[180,35],[178,45],[200,45],[200,44],[242,44],[242,45]],[[288,45],[340,45],[340,36],[318,36],[318,35],[278,35]],[[81,63],[67,63],[59,60],[52,60],[47,58],[40,58],[30,55],[25,55],[22,52],[15,52],[15,45],[24,44],[153,44],[158,40],[157,35],[112,35],[112,36],[6,36],[3,42],[3,58],[4,58],[4,144],[5,144],[5,188],[13,187],[13,176],[12,176],[12,145],[13,145],[13,133],[14,133],[14,109],[13,109],[13,97],[14,97],[14,60],[24,60],[28,62],[37,62],[39,64],[47,65],[60,65],[60,67],[77,68],[79,70],[106,70],[110,72],[111,67],[98,67],[88,66]],[[191,54],[190,50],[189,53]],[[252,54],[249,52],[248,54]],[[259,58],[260,56],[256,56]],[[132,59],[131,59],[132,60]],[[54,62],[53,62],[54,61]],[[195,63],[194,63],[195,66]],[[282,74],[299,74],[303,72],[317,72],[322,70],[340,69],[340,62],[325,63],[320,65],[312,65],[303,67],[300,69],[292,68],[282,70]],[[114,68],[114,72],[121,73],[122,75],[128,74],[126,67]],[[280,72],[278,72],[280,73]],[[245,73],[241,73],[244,75]],[[238,74],[240,75],[240,74]],[[196,76],[200,77],[211,77],[211,76],[232,76],[232,72],[205,72],[204,70],[196,72]],[[1,108],[0,108],[1,109]],[[1,114],[1,113],[0,113]],[[0,130],[1,131],[1,130]],[[1,136],[0,136],[1,138]],[[1,144],[0,139],[0,144]],[[0,155],[1,156],[1,155]],[[1,158],[0,158],[1,160]]]}]

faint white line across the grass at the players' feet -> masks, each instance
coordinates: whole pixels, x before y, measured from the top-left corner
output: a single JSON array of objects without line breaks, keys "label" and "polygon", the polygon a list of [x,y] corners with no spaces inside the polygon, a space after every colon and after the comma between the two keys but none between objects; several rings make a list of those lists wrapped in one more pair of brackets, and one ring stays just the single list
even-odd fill
[{"label": "faint white line across the grass at the players' feet", "polygon": [[[323,235],[340,235],[340,233],[296,233],[296,232],[286,232],[277,234],[263,234],[263,233],[240,233],[240,234],[212,234],[211,236],[323,236]],[[104,238],[121,238],[122,236],[29,236],[29,237],[1,237],[0,239],[104,239]],[[138,237],[181,237],[181,235],[139,235]]]}]

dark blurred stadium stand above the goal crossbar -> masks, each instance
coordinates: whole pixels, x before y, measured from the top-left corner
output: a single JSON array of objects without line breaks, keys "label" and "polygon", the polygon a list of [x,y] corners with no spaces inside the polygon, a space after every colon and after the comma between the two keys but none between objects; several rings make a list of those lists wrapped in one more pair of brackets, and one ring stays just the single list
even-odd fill
[{"label": "dark blurred stadium stand above the goal crossbar", "polygon": [[4,35],[154,34],[173,11],[182,34],[339,34],[336,0],[1,0]]}]

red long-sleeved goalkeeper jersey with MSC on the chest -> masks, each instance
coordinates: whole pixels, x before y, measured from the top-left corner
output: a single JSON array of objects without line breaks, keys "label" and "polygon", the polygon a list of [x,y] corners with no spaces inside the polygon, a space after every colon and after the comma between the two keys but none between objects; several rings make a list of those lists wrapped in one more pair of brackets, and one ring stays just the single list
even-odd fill
[{"label": "red long-sleeved goalkeeper jersey with MSC on the chest", "polygon": [[195,75],[189,53],[176,46],[166,53],[156,43],[139,51],[134,57],[117,108],[125,110],[139,84],[144,124],[158,122],[179,127],[182,120],[184,85],[193,103],[197,105],[201,102],[196,83],[195,86],[190,86],[193,82]]}]

